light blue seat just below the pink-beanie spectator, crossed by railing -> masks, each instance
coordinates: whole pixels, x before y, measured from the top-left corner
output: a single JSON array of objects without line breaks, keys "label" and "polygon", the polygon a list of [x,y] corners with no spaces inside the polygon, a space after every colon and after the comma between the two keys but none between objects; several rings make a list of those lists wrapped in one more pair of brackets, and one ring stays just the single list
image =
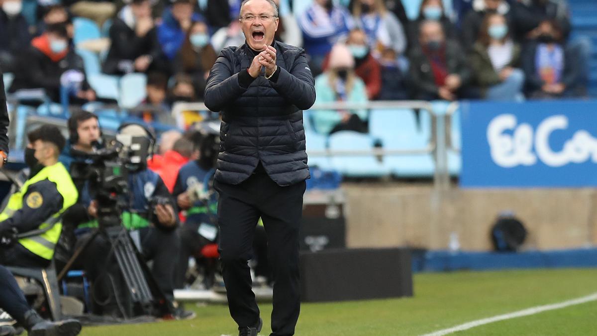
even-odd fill
[{"label": "light blue seat just below the pink-beanie spectator, crossed by railing", "polygon": [[[330,136],[332,150],[371,151],[373,138],[352,131],[342,131]],[[331,158],[332,167],[343,176],[352,178],[379,178],[390,175],[390,169],[371,155],[339,155]]]}]

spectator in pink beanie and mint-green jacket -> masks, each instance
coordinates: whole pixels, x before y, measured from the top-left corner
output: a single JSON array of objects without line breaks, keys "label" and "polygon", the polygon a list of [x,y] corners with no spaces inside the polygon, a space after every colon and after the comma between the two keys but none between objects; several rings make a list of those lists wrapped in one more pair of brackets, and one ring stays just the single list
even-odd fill
[{"label": "spectator in pink beanie and mint-green jacket", "polygon": [[[316,103],[367,102],[365,83],[355,74],[355,59],[344,44],[336,44],[330,51],[328,69],[315,78]],[[313,112],[315,130],[331,134],[341,130],[367,132],[367,111]]]}]

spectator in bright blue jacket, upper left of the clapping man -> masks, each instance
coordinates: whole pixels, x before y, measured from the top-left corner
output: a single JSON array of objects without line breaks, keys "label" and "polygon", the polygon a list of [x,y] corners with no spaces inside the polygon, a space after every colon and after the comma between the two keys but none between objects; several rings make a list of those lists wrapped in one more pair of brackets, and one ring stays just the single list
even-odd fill
[{"label": "spectator in bright blue jacket, upper left of the clapping man", "polygon": [[170,11],[164,13],[164,20],[158,26],[158,41],[168,60],[176,57],[192,23],[201,20],[193,12],[194,4],[191,0],[175,0]]}]

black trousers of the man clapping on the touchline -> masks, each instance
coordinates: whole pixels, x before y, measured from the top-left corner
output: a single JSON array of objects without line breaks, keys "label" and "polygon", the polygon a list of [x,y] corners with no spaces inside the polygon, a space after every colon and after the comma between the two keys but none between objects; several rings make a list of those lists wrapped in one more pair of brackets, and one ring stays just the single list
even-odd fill
[{"label": "black trousers of the man clapping on the touchline", "polygon": [[306,183],[280,187],[265,173],[238,185],[216,182],[219,192],[219,251],[230,315],[239,326],[254,326],[259,307],[251,291],[248,261],[261,217],[273,273],[272,335],[293,335],[300,311],[298,232]]}]

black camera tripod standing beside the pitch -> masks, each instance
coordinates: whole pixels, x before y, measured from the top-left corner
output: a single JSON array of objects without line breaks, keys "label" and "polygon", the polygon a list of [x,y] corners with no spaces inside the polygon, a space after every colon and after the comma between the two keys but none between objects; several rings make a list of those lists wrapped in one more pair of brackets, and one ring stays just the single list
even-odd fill
[{"label": "black camera tripod standing beside the pitch", "polygon": [[168,300],[166,300],[164,294],[159,289],[143,256],[141,256],[141,253],[134,245],[128,230],[121,225],[110,227],[101,227],[100,225],[100,228],[96,228],[91,236],[76,249],[66,265],[64,265],[64,268],[57,276],[58,281],[60,282],[63,279],[76,259],[89,248],[91,243],[100,234],[107,239],[111,246],[107,262],[110,262],[113,253],[127,285],[130,300],[136,307],[139,307],[141,313],[147,315],[158,314],[158,316],[172,313]]}]

